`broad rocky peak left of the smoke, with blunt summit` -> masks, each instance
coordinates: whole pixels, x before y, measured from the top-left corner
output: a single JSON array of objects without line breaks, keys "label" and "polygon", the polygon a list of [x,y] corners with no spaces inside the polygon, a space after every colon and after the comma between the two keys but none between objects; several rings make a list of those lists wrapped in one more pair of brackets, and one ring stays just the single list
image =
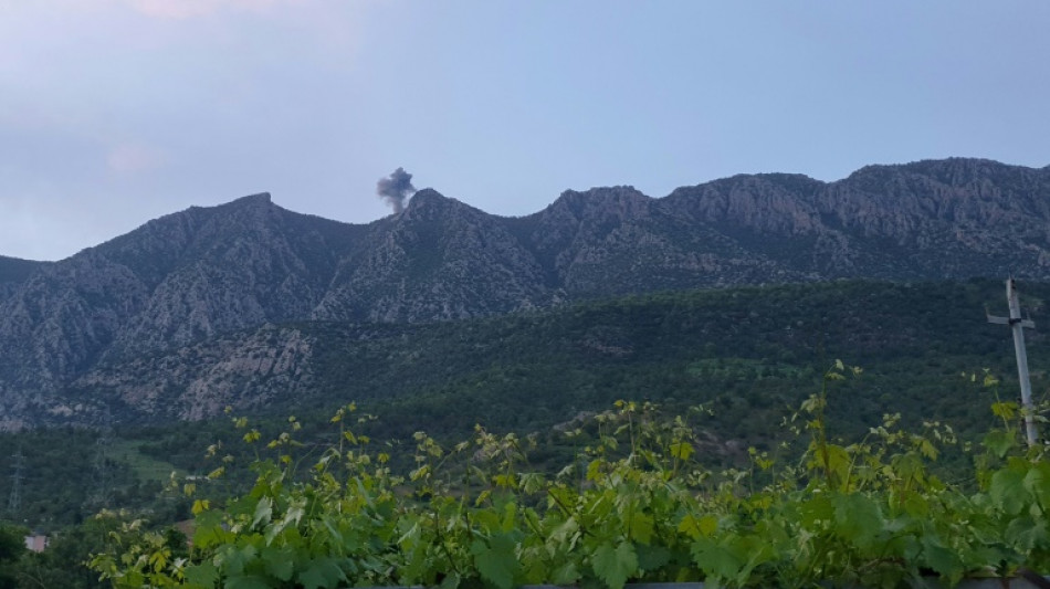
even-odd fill
[{"label": "broad rocky peak left of the smoke, with blunt summit", "polygon": [[[165,256],[170,270],[129,318],[114,351],[183,346],[266,322],[308,317],[360,233],[281,209],[269,194],[208,213],[191,233],[176,232],[181,248]],[[333,239],[339,231],[345,235]]]}]

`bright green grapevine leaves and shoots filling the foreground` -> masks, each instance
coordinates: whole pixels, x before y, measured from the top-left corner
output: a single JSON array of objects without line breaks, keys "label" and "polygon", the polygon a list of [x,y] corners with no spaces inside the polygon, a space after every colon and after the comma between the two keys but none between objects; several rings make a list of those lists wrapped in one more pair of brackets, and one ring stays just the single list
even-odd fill
[{"label": "bright green grapevine leaves and shoots filling the foreground", "polygon": [[[861,440],[829,435],[832,389],[859,375],[834,362],[787,420],[800,460],[786,461],[787,446],[779,457],[752,449],[746,469],[717,472],[697,460],[704,408],[666,418],[618,401],[565,432],[579,456],[557,474],[529,466],[534,438],[476,428],[452,446],[418,432],[412,467],[398,475],[348,427],[354,407],[333,418],[335,442],[306,469],[292,418],[265,444],[275,455],[253,463],[250,492],[199,501],[186,556],[135,520],[92,566],[116,588],[311,589],[896,587],[1050,567],[1050,462],[1020,445],[1016,420],[989,434],[973,481],[949,484],[932,469],[958,444],[946,425],[914,433],[885,416]],[[248,420],[234,423],[261,444]]]}]

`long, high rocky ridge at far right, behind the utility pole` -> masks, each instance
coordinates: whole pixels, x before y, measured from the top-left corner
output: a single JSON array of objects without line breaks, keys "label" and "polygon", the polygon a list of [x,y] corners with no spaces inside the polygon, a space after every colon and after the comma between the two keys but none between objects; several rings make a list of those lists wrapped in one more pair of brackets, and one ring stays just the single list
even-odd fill
[{"label": "long, high rocky ridge at far right, behind the utility pole", "polygon": [[741,176],[666,206],[817,278],[1044,278],[1050,169],[949,159],[869,166],[833,183]]}]

